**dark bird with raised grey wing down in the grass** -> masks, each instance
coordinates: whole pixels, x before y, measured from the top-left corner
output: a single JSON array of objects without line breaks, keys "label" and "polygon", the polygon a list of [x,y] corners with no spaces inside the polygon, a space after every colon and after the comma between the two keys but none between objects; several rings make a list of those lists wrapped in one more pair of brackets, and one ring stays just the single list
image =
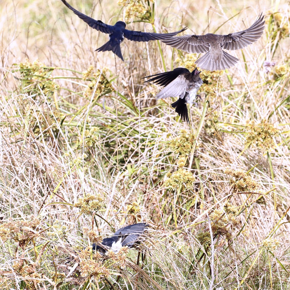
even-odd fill
[{"label": "dark bird with raised grey wing down in the grass", "polygon": [[[144,222],[125,226],[124,228],[117,230],[112,237],[105,238],[101,244],[106,247],[110,247],[116,253],[119,252],[121,247],[128,246],[128,248],[132,248],[139,235],[144,233],[148,226],[149,225]],[[102,246],[98,246],[97,244],[93,244],[93,250],[97,250],[102,253],[107,251],[105,247],[102,248]]]}]

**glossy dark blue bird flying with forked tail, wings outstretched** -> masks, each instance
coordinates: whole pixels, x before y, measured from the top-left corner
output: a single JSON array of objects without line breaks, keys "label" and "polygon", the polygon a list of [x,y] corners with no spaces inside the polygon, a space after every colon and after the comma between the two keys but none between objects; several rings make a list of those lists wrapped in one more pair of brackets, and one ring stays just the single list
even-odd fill
[{"label": "glossy dark blue bird flying with forked tail, wings outstretched", "polygon": [[103,33],[109,34],[109,41],[105,43],[103,46],[97,48],[95,51],[110,51],[112,50],[115,55],[117,55],[122,61],[124,61],[120,43],[127,38],[132,41],[149,41],[149,40],[164,40],[177,35],[184,31],[187,27],[182,30],[172,32],[172,33],[154,33],[154,32],[141,32],[128,30],[126,28],[126,23],[123,21],[116,22],[115,25],[108,25],[103,23],[101,20],[95,20],[91,17],[86,16],[85,14],[75,10],[72,6],[70,6],[65,0],[61,0],[66,7],[72,10],[80,19],[84,20],[88,25],[94,29],[97,29]]}]

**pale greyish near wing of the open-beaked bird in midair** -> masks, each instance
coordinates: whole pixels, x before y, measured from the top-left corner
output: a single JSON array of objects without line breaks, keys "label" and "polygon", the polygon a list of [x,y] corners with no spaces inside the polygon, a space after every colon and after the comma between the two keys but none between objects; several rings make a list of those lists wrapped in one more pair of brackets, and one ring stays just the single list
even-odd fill
[{"label": "pale greyish near wing of the open-beaked bird in midair", "polygon": [[188,92],[190,82],[192,82],[192,75],[190,72],[179,75],[175,80],[163,88],[157,95],[156,99],[163,99],[167,97],[184,98],[185,93]]}]

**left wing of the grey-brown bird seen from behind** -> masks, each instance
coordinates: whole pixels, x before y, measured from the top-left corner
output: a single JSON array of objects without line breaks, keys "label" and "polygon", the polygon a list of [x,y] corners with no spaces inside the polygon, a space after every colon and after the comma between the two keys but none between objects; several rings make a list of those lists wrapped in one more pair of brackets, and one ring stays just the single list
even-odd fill
[{"label": "left wing of the grey-brown bird seen from behind", "polygon": [[165,44],[191,53],[208,52],[210,45],[203,39],[203,35],[184,35],[162,40]]}]

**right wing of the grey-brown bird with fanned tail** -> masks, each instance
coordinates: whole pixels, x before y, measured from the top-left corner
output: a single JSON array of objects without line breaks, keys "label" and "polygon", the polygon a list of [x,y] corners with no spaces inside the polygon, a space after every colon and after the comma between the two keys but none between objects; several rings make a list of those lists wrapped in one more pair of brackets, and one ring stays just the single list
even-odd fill
[{"label": "right wing of the grey-brown bird with fanned tail", "polygon": [[222,48],[227,50],[236,50],[252,44],[257,41],[263,34],[265,21],[262,13],[259,15],[255,23],[248,29],[223,35],[224,41]]}]

